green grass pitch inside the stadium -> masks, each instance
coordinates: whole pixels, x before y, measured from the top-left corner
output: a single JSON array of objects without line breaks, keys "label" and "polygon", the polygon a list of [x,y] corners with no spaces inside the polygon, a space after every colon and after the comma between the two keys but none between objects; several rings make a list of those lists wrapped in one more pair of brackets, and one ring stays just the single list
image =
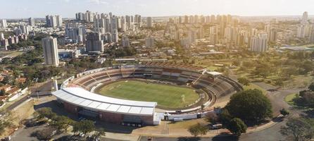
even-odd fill
[{"label": "green grass pitch inside the stadium", "polygon": [[[157,102],[159,107],[166,109],[181,108],[199,99],[199,94],[188,87],[146,83],[135,80],[113,82],[101,87],[97,93],[119,99]],[[185,102],[182,102],[182,95],[184,95]]]}]

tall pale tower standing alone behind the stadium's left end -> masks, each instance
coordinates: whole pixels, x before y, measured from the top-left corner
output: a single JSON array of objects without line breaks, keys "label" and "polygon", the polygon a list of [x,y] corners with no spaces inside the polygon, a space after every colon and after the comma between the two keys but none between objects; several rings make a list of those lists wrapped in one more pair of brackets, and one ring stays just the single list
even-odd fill
[{"label": "tall pale tower standing alone behind the stadium's left end", "polygon": [[42,47],[44,51],[44,60],[46,65],[58,66],[58,43],[54,37],[46,37],[42,39]]}]

